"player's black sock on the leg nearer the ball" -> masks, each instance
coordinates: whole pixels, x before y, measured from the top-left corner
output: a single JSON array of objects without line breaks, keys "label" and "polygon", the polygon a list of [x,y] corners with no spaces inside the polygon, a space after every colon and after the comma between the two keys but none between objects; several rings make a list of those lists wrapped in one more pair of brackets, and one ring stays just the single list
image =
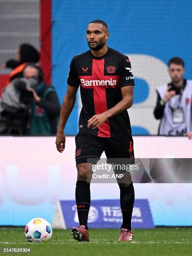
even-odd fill
[{"label": "player's black sock on the leg nearer the ball", "polygon": [[76,190],[75,190],[75,199],[77,205],[77,213],[79,217],[79,225],[84,225],[87,227],[87,219],[90,210],[90,183],[87,183],[84,180],[77,180]]}]

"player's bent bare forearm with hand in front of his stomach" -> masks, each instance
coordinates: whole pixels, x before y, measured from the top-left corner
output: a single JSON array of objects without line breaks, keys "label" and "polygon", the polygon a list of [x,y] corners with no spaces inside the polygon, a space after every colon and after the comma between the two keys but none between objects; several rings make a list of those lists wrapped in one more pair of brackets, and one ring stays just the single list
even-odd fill
[{"label": "player's bent bare forearm with hand in front of his stomach", "polygon": [[94,115],[88,120],[87,126],[92,129],[96,129],[99,125],[104,123],[108,118],[122,113],[123,111],[131,108],[133,105],[133,85],[121,87],[121,94],[123,99],[118,102],[113,108],[103,112],[99,115]]}]

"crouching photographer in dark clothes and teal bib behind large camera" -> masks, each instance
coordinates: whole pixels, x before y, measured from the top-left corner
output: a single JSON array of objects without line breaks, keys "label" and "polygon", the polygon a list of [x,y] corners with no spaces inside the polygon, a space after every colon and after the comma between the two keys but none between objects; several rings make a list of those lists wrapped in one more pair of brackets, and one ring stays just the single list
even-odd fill
[{"label": "crouching photographer in dark clothes and teal bib behind large camera", "polygon": [[[0,101],[1,124],[4,118],[2,133],[12,134],[16,120],[19,134],[56,134],[60,105],[54,87],[44,83],[42,69],[35,63],[26,65],[23,77],[14,79],[3,91]],[[25,115],[20,114],[23,111]],[[9,127],[5,127],[5,123]]]}]

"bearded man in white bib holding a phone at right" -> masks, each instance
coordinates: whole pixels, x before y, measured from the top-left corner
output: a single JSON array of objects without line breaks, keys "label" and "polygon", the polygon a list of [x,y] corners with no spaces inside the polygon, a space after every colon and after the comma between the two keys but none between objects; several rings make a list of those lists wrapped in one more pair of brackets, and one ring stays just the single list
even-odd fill
[{"label": "bearded man in white bib holding a phone at right", "polygon": [[154,116],[161,119],[158,135],[188,136],[192,131],[192,80],[183,78],[184,61],[179,57],[170,59],[168,67],[172,81],[156,90]]}]

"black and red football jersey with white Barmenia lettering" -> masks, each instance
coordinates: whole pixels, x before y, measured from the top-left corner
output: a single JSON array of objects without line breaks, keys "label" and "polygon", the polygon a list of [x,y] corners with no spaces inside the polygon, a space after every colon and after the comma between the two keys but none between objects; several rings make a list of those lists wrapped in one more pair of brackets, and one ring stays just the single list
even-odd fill
[{"label": "black and red football jersey with white Barmenia lettering", "polygon": [[113,108],[122,100],[121,87],[135,85],[127,56],[109,47],[102,57],[93,56],[91,50],[79,54],[71,61],[67,83],[73,87],[80,85],[79,132],[108,138],[131,133],[127,110],[108,118],[97,129],[87,127],[87,121],[93,115]]}]

